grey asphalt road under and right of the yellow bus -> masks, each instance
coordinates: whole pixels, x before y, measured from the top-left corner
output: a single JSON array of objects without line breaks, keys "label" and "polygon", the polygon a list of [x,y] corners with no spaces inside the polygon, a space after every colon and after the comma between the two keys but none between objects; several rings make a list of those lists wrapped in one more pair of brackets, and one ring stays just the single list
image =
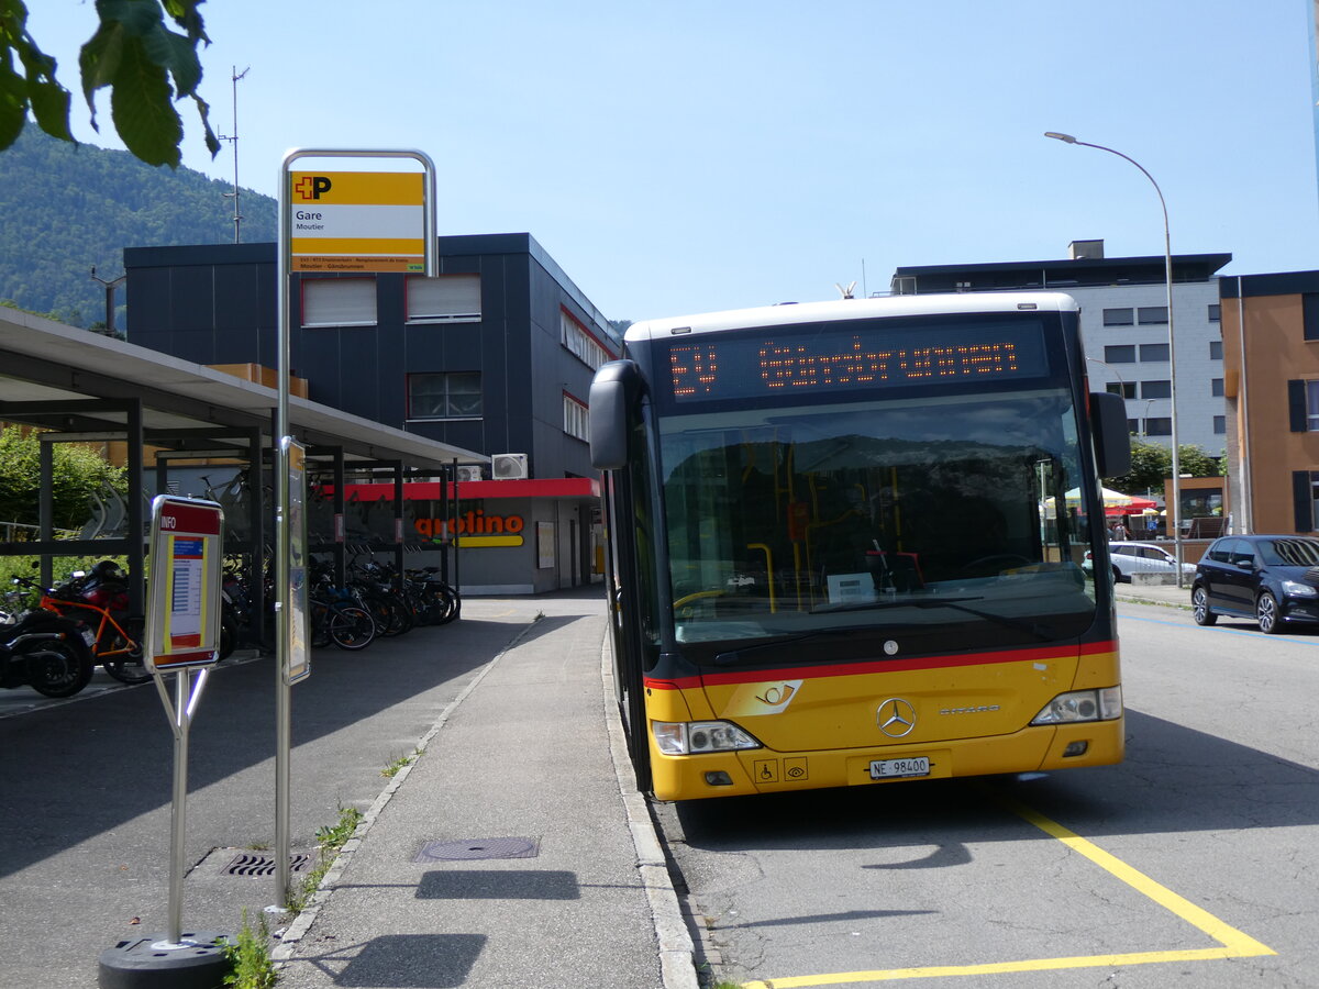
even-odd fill
[{"label": "grey asphalt road under and right of the yellow bus", "polygon": [[1319,985],[1319,632],[1122,604],[1120,634],[1122,765],[661,806],[712,972]]}]

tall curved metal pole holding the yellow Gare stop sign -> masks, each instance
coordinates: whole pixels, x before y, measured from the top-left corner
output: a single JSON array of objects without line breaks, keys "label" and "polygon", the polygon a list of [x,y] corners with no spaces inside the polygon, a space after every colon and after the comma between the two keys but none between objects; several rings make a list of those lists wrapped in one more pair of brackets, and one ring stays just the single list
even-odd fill
[{"label": "tall curved metal pole holding the yellow Gare stop sign", "polygon": [[[367,150],[348,148],[295,148],[284,156],[280,165],[280,219],[278,239],[280,249],[276,264],[276,309],[278,314],[278,405],[276,407],[274,440],[276,463],[276,512],[274,512],[274,641],[276,641],[276,702],[274,702],[274,897],[276,906],[289,902],[289,786],[290,786],[290,752],[293,746],[293,719],[291,719],[291,683],[293,671],[299,669],[297,678],[306,676],[306,657],[294,655],[294,642],[301,642],[301,649],[306,649],[306,636],[293,634],[293,603],[294,589],[290,587],[294,576],[291,554],[295,545],[293,533],[294,520],[290,505],[290,458],[295,454],[290,450],[291,429],[289,426],[289,375],[290,371],[290,309],[289,309],[289,276],[293,270],[293,237],[291,237],[291,170],[293,162],[299,158],[406,158],[421,164],[423,174],[423,203],[422,203],[422,237],[423,237],[423,270],[427,277],[438,274],[439,265],[435,258],[435,165],[422,152],[418,150]],[[313,183],[314,186],[314,183]],[[328,182],[326,183],[328,189]],[[319,214],[318,214],[319,215]],[[360,233],[357,236],[361,236]],[[369,265],[355,270],[377,270]],[[388,270],[388,269],[385,269]],[[295,446],[295,444],[294,444]],[[305,592],[305,585],[303,585]]]}]

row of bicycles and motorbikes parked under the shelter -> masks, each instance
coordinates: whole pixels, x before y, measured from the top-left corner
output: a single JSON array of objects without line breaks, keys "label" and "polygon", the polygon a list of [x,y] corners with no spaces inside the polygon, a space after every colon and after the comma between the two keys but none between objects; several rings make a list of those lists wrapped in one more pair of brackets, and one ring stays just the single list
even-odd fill
[{"label": "row of bicycles and motorbikes parked under the shelter", "polygon": [[[241,642],[273,637],[274,585],[262,567],[264,614],[241,558],[228,558],[220,591],[220,649],[226,659]],[[346,585],[334,582],[334,566],[313,558],[309,568],[309,626],[313,646],[360,650],[377,637],[400,636],[418,625],[446,625],[462,609],[455,588],[437,567],[406,570],[372,559],[353,562]],[[0,607],[0,687],[30,686],[45,696],[73,696],[91,680],[99,663],[123,683],[145,683],[145,620],[129,609],[128,575],[113,560],[75,571],[54,587],[15,576],[18,589]]]}]

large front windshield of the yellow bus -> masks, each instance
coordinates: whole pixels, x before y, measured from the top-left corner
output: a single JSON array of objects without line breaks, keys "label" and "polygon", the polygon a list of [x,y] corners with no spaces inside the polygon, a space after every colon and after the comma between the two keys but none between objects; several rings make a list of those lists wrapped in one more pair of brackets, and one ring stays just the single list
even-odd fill
[{"label": "large front windshield of the yellow bus", "polygon": [[1030,385],[661,415],[675,641],[728,666],[1080,636],[1078,417]]}]

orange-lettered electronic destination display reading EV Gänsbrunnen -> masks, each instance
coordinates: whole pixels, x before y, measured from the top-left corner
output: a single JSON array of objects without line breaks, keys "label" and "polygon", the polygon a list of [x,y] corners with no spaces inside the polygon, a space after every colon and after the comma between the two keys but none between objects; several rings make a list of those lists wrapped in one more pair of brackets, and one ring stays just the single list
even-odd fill
[{"label": "orange-lettered electronic destination display reading EV G\u00e4nsbrunnen", "polygon": [[960,324],[708,334],[669,349],[677,402],[1031,378],[1047,373],[1041,327]]}]

